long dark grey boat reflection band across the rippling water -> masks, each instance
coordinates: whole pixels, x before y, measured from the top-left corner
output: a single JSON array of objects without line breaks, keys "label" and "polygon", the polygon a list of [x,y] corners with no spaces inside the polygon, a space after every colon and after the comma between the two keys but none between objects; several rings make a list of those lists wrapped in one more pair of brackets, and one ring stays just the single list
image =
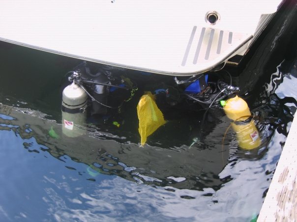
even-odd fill
[{"label": "long dark grey boat reflection band across the rippling water", "polygon": [[[34,137],[38,144],[48,147],[47,151],[61,160],[67,155],[73,161],[87,164],[91,177],[98,173],[116,174],[141,184],[188,189],[219,189],[228,181],[228,178],[218,176],[229,158],[228,149],[222,150],[224,131],[220,128],[206,137],[210,141],[208,145],[160,148],[146,144],[140,147],[127,142],[125,137],[100,132],[96,127],[86,127],[82,136],[67,137],[62,134],[61,124],[46,119],[46,115],[38,111],[6,105],[1,105],[0,111],[1,130],[15,130],[24,139]],[[11,125],[13,127],[9,127]],[[24,146],[30,149],[30,144]]]}]

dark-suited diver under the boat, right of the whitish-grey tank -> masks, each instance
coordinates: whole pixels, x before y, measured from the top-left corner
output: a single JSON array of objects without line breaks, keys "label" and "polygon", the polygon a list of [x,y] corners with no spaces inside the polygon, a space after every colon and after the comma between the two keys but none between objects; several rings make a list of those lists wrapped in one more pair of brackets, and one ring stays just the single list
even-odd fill
[{"label": "dark-suited diver under the boat, right of the whitish-grey tank", "polygon": [[78,85],[88,97],[84,108],[87,123],[100,125],[111,122],[119,127],[123,121],[121,107],[137,90],[125,71],[106,65],[92,66],[84,61],[68,74],[68,80]]}]

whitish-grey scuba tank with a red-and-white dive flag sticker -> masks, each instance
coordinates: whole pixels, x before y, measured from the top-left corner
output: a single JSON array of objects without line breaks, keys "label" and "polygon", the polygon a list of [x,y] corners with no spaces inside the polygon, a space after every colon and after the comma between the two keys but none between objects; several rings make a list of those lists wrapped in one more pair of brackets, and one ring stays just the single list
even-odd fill
[{"label": "whitish-grey scuba tank with a red-and-white dive flag sticker", "polygon": [[62,132],[68,137],[76,137],[85,133],[81,127],[87,120],[86,92],[75,83],[65,87],[62,94]]}]

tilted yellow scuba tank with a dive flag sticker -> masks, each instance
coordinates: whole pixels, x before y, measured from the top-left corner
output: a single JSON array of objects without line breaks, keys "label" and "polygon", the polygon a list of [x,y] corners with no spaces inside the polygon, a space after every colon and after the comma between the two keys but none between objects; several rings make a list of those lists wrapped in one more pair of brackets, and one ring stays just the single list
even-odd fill
[{"label": "tilted yellow scuba tank with a dive flag sticker", "polygon": [[259,131],[251,118],[247,103],[238,96],[228,99],[224,106],[226,116],[233,120],[231,123],[236,132],[239,147],[253,149],[261,145]]}]

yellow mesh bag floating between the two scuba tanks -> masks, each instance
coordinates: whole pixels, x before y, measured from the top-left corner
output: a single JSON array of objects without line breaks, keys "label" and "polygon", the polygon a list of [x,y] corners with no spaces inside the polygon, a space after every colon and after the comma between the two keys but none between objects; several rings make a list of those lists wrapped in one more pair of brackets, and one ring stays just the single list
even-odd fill
[{"label": "yellow mesh bag floating between the two scuba tanks", "polygon": [[143,146],[147,137],[164,125],[163,113],[157,107],[154,96],[150,92],[145,92],[137,105],[137,115],[139,119],[139,134],[141,136],[141,146]]}]

